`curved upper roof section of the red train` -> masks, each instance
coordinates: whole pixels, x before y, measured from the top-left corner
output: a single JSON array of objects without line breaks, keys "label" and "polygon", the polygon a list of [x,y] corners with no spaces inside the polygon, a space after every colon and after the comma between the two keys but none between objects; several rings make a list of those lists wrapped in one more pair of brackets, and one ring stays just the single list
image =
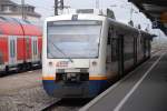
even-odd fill
[{"label": "curved upper roof section of the red train", "polygon": [[0,17],[0,34],[11,36],[41,36],[40,28],[29,21]]}]

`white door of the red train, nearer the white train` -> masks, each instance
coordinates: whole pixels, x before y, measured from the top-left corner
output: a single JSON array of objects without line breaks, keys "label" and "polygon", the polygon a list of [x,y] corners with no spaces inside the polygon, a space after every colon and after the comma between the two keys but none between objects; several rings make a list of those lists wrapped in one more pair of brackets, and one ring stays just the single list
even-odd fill
[{"label": "white door of the red train, nearer the white train", "polygon": [[33,37],[31,40],[31,48],[32,48],[32,62],[37,62],[38,58],[38,37]]}]

